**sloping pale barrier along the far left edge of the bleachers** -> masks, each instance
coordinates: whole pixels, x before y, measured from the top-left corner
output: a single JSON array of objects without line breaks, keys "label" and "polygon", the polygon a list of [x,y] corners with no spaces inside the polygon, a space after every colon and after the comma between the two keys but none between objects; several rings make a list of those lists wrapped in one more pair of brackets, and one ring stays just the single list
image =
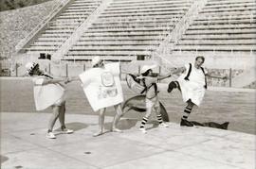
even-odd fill
[{"label": "sloping pale barrier along the far left edge of the bleachers", "polygon": [[55,4],[50,14],[46,16],[46,18],[37,25],[22,41],[20,41],[16,46],[15,49],[17,52],[21,51],[42,28],[44,28],[47,23],[64,7],[69,3],[70,0],[59,0],[58,3]]}]

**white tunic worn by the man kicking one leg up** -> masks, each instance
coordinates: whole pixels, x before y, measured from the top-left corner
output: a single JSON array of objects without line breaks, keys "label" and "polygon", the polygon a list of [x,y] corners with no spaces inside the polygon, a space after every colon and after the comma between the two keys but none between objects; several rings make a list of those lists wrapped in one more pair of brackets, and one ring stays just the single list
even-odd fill
[{"label": "white tunic worn by the man kicking one leg up", "polygon": [[196,69],[192,64],[192,71],[191,75],[189,76],[190,80],[185,80],[184,78],[188,75],[190,64],[186,64],[185,67],[186,72],[179,76],[177,79],[180,85],[183,101],[187,102],[189,99],[191,99],[192,103],[200,106],[206,92],[204,87],[205,75],[201,68]]}]

